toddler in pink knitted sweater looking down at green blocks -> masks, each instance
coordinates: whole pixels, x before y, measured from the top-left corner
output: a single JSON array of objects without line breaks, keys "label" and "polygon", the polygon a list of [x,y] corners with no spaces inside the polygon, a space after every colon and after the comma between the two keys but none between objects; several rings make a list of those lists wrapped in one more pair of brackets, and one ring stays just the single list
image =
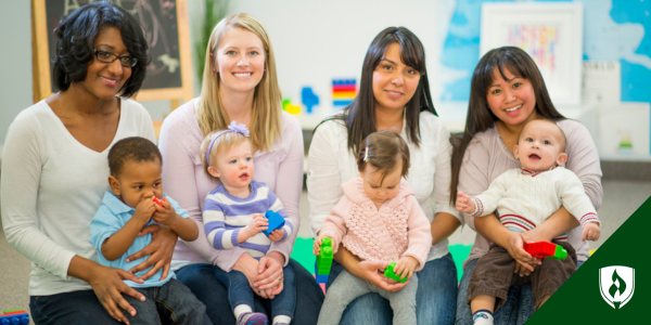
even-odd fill
[{"label": "toddler in pink knitted sweater looking down at green blocks", "polygon": [[371,133],[360,145],[357,168],[359,178],[342,185],[344,196],[323,221],[315,255],[321,240],[330,237],[335,251],[342,244],[361,260],[395,261],[394,272],[409,282],[390,292],[344,270],[328,289],[318,324],[339,324],[348,303],[369,292],[390,301],[394,324],[416,324],[414,271],[425,264],[432,235],[427,218],[403,179],[409,170],[409,147],[394,132]]}]

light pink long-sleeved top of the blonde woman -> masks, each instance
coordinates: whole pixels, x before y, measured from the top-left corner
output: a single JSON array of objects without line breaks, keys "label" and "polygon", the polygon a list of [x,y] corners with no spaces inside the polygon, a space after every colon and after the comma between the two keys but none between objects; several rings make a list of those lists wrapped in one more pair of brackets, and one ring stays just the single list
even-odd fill
[{"label": "light pink long-sleeved top of the blonde woman", "polygon": [[[181,208],[188,210],[199,225],[196,240],[178,242],[171,268],[178,270],[194,263],[210,263],[230,271],[245,250],[235,247],[218,250],[208,243],[202,220],[206,194],[217,187],[218,182],[209,178],[203,169],[200,146],[203,135],[194,117],[192,100],[175,109],[163,122],[158,147],[163,154],[163,186]],[[298,120],[282,113],[282,134],[270,152],[256,152],[253,155],[257,182],[264,182],[282,202],[292,223],[298,229],[301,217],[298,202],[303,190],[303,131]],[[280,182],[282,180],[282,183]],[[272,243],[269,252],[278,251],[290,260],[292,246],[296,239],[294,232],[288,239]]]}]

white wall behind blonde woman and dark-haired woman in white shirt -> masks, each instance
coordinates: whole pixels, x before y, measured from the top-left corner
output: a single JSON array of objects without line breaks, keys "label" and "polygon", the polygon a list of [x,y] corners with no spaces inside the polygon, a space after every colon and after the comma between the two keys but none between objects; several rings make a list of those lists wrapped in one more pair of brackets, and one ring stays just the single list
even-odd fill
[{"label": "white wall behind blonde woman and dark-haired woman in white shirt", "polygon": [[[404,0],[237,0],[230,12],[258,18],[271,38],[283,98],[301,105],[301,89],[319,96],[314,120],[332,113],[332,79],[355,78],[373,38],[388,26],[405,26],[425,47],[430,83],[435,89],[439,44],[435,17],[437,1]],[[299,116],[302,125],[305,114]],[[314,126],[312,126],[314,127]]]}]

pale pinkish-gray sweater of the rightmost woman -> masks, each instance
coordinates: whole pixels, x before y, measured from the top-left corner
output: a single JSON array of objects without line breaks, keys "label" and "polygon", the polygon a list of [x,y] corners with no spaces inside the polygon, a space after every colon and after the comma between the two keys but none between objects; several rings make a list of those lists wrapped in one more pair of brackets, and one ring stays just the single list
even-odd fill
[{"label": "pale pinkish-gray sweater of the rightmost woman", "polygon": [[[603,190],[601,188],[601,166],[599,154],[590,133],[582,123],[574,120],[562,120],[558,126],[567,138],[565,168],[572,170],[583,183],[586,194],[590,197],[595,209],[601,206]],[[488,188],[490,182],[511,168],[522,168],[520,161],[509,152],[502,142],[497,128],[493,127],[475,134],[465,155],[459,173],[458,191],[469,196],[476,196]],[[465,223],[473,230],[474,218],[464,213]],[[590,256],[588,243],[580,240],[582,227],[569,232],[567,240],[576,249],[579,261]],[[488,251],[490,242],[477,233],[468,261],[482,257]]]}]

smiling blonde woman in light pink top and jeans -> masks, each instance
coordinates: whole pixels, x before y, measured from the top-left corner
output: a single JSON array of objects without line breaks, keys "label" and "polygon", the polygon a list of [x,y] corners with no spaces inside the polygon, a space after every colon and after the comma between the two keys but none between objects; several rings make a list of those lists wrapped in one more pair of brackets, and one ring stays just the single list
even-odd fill
[{"label": "smiling blonde woman in light pink top and jeans", "polygon": [[[189,211],[201,231],[199,239],[177,244],[171,266],[178,280],[208,307],[213,323],[234,324],[226,288],[215,280],[216,268],[244,273],[256,295],[272,299],[283,288],[282,266],[289,263],[296,273],[299,292],[293,323],[316,324],[323,294],[314,277],[290,259],[296,232],[288,240],[273,243],[259,261],[239,247],[215,249],[206,239],[203,204],[218,183],[203,170],[200,145],[210,131],[226,129],[233,120],[251,130],[255,181],[266,183],[278,195],[292,223],[298,226],[303,133],[298,121],[281,108],[269,36],[257,20],[244,13],[230,15],[215,26],[201,95],[174,110],[161,130],[166,191]],[[270,315],[269,300],[256,299],[255,311]]]}]

